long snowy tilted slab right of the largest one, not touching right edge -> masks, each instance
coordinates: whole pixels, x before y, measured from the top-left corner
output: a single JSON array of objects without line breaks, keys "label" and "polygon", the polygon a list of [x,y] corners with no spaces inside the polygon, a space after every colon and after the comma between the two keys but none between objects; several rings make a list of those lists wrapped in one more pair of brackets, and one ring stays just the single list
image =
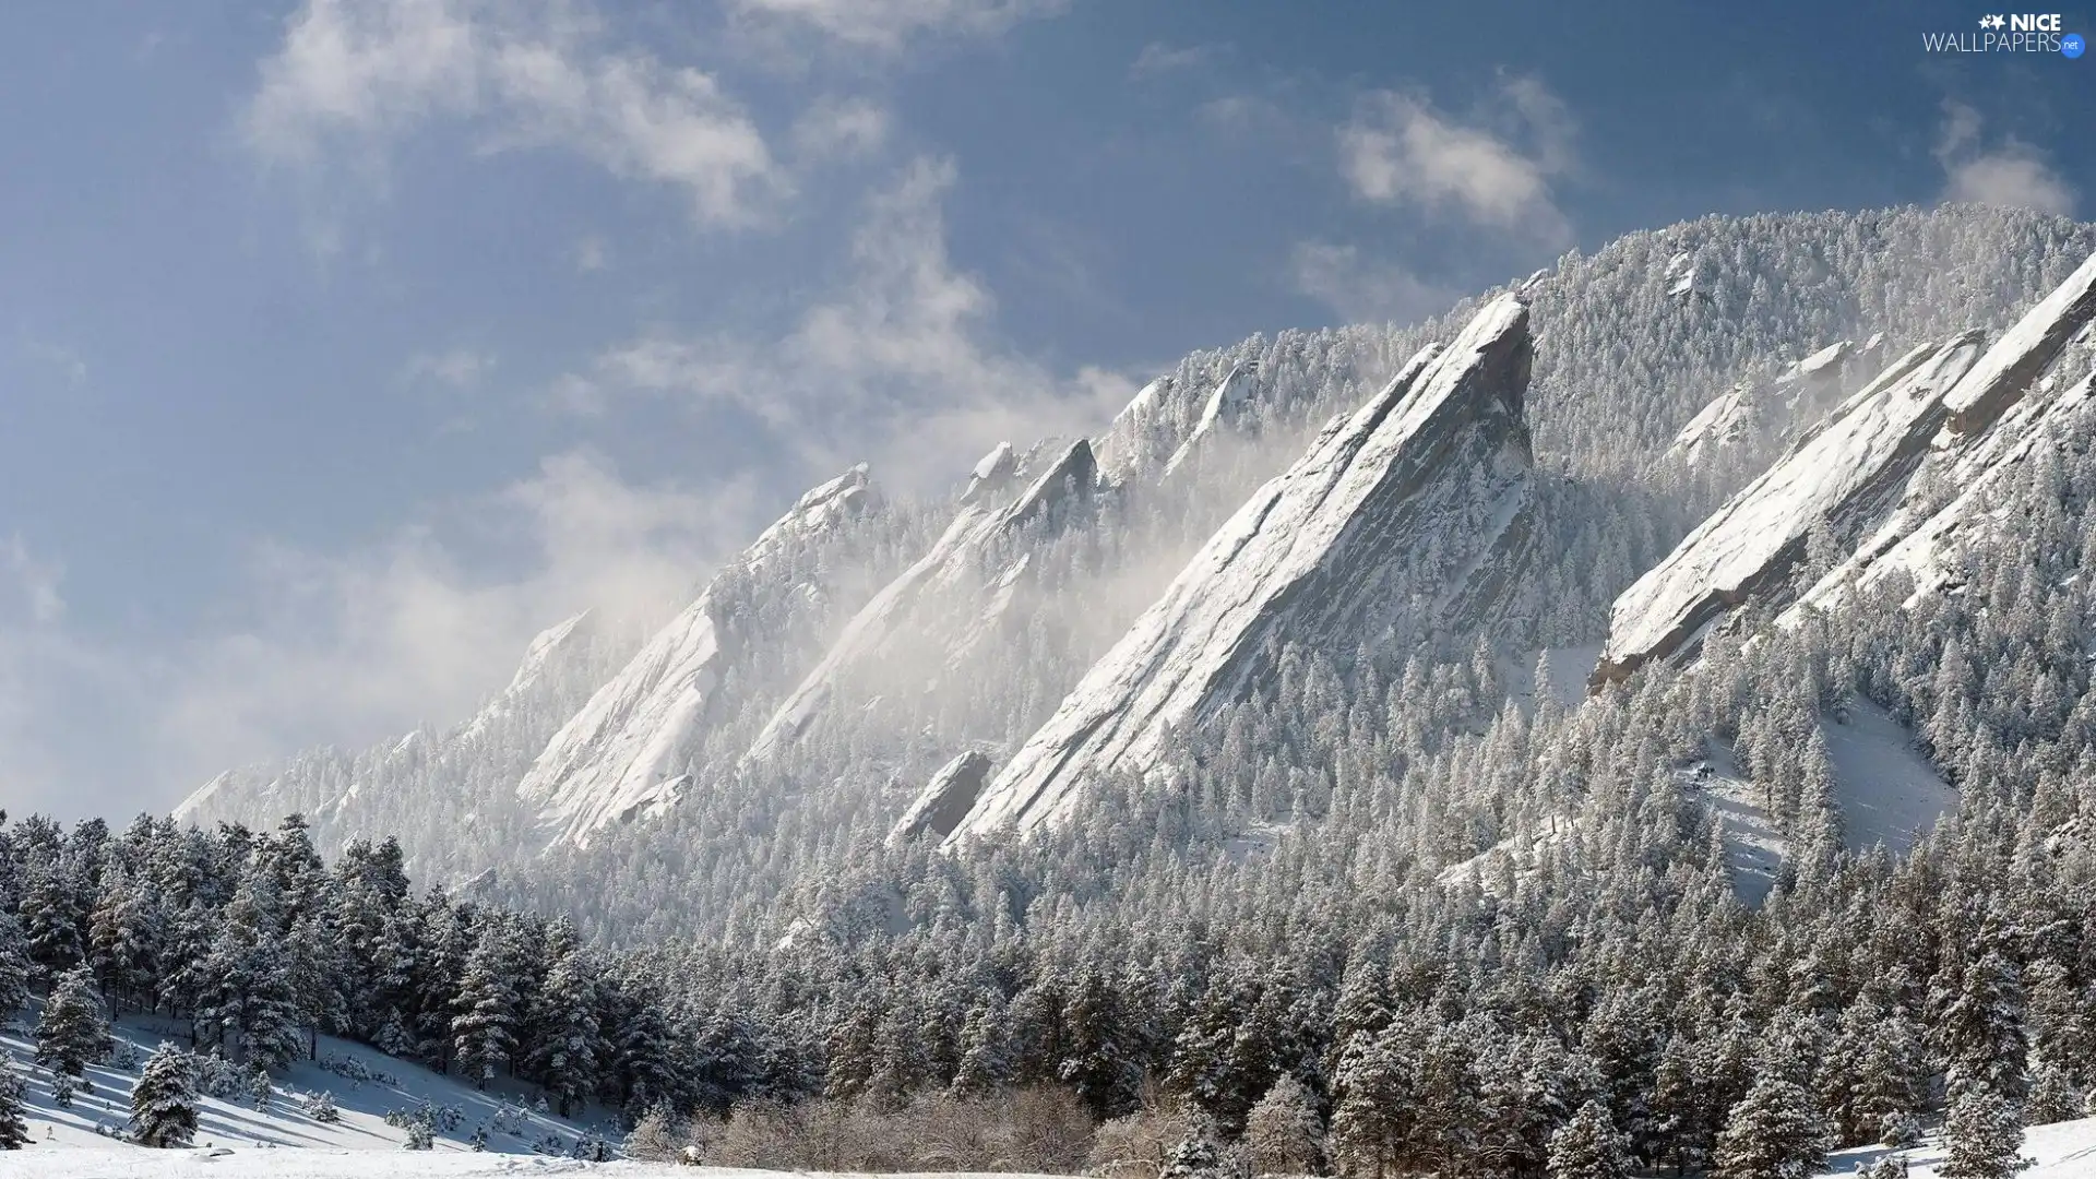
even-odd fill
[{"label": "long snowy tilted slab right of the largest one, not touching right edge", "polygon": [[1784,585],[1815,522],[1870,518],[1905,487],[1943,428],[1943,394],[1977,357],[1979,334],[1924,344],[1842,403],[1616,598],[1591,682],[1694,648],[1710,621]]}]

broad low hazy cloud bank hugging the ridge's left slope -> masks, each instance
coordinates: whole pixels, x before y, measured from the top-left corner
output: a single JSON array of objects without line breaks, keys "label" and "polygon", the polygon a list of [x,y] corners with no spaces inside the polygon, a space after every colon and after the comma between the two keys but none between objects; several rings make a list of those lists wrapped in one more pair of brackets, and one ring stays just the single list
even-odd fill
[{"label": "broad low hazy cloud bank hugging the ridge's left slope", "polygon": [[637,487],[568,453],[363,552],[262,545],[243,625],[180,650],[157,690],[145,728],[176,776],[161,787],[463,720],[539,629],[585,606],[660,619],[765,510],[748,483]]}]

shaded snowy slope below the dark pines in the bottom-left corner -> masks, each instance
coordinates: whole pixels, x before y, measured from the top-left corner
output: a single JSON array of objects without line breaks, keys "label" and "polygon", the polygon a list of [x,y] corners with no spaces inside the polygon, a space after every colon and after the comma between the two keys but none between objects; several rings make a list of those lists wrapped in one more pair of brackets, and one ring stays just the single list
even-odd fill
[{"label": "shaded snowy slope below the dark pines in the bottom-left corner", "polygon": [[[138,1080],[138,1068],[161,1041],[187,1043],[178,1034],[180,1026],[168,1020],[119,1022],[115,1028],[117,1051],[113,1059],[107,1066],[88,1070],[88,1082],[92,1082],[94,1091],[75,1093],[73,1106],[61,1110],[50,1099],[50,1072],[31,1064],[36,1045],[23,1028],[34,1026],[34,1017],[31,1011],[17,1026],[0,1026],[0,1051],[15,1057],[27,1080],[27,1120],[29,1133],[36,1139],[36,1145],[25,1152],[0,1152],[0,1179],[8,1175],[132,1175],[132,1171],[113,1166],[101,1171],[94,1166],[88,1171],[65,1171],[61,1162],[54,1162],[80,1150],[92,1150],[96,1156],[113,1152],[117,1158],[151,1160],[168,1156],[170,1152],[147,1152],[117,1143],[96,1133],[96,1129],[124,1129],[130,1120],[130,1091]],[[210,1143],[212,1148],[235,1148],[239,1156],[262,1158],[283,1156],[285,1150],[300,1148],[400,1152],[407,1131],[386,1124],[386,1114],[392,1110],[415,1110],[423,1103],[459,1112],[455,1129],[438,1127],[436,1152],[465,1154],[470,1152],[467,1137],[476,1129],[486,1127],[486,1150],[507,1154],[520,1166],[532,1164],[532,1158],[528,1158],[530,1152],[541,1143],[549,1145],[551,1137],[560,1137],[566,1148],[572,1148],[581,1135],[597,1135],[612,1143],[623,1137],[610,1124],[595,1124],[595,1110],[589,1120],[562,1120],[537,1114],[528,1106],[530,1099],[518,1087],[497,1082],[482,1093],[455,1076],[438,1076],[417,1064],[394,1059],[375,1049],[333,1036],[321,1036],[319,1064],[298,1062],[289,1074],[275,1078],[275,1087],[277,1097],[270,1101],[268,1112],[258,1112],[241,1097],[203,1097],[197,1110],[197,1148]],[[319,1122],[300,1103],[300,1095],[323,1091],[335,1101],[337,1122]],[[417,1154],[415,1158],[430,1160],[432,1156]],[[488,1156],[480,1154],[476,1158],[486,1160]],[[42,1162],[31,1164],[31,1160]],[[71,1166],[71,1162],[63,1166]],[[256,1171],[256,1175],[277,1173],[287,1171]],[[419,1173],[423,1171],[417,1166]],[[306,1173],[300,1171],[298,1175]],[[325,1175],[333,1175],[333,1171]],[[451,1175],[451,1171],[444,1171],[444,1175]],[[459,1175],[465,1175],[465,1171]]]}]

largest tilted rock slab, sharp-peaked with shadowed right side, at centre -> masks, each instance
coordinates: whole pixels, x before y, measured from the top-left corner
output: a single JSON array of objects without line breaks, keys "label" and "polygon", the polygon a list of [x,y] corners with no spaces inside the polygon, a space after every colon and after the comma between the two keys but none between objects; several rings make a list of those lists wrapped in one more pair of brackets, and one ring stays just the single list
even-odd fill
[{"label": "largest tilted rock slab, sharp-peaked with shadowed right side, at centre", "polygon": [[1174,730],[1243,699],[1274,642],[1488,610],[1532,543],[1530,359],[1528,308],[1501,296],[1327,426],[1084,676],[949,841],[1061,820],[1086,778],[1147,770]]}]

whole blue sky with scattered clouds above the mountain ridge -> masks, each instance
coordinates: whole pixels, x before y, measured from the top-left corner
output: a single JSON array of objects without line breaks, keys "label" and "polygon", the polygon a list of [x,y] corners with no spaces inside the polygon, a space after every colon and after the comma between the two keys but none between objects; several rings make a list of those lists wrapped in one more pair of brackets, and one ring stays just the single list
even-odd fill
[{"label": "whole blue sky with scattered clouds above the mountain ridge", "polygon": [[457,720],[815,478],[941,487],[1191,348],[1706,212],[2096,208],[2096,61],[1738,13],[13,6],[0,808]]}]

